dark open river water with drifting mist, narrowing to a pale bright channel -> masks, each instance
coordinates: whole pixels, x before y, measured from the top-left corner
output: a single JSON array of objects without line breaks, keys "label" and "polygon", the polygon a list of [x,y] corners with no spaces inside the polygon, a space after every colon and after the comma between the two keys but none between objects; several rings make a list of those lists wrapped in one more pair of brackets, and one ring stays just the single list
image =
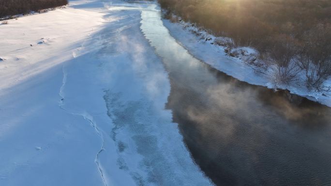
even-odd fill
[{"label": "dark open river water with drifting mist, narrowing to a pale bright channel", "polygon": [[329,107],[211,68],[176,43],[159,12],[142,11],[141,23],[169,73],[166,107],[216,185],[331,185]]}]

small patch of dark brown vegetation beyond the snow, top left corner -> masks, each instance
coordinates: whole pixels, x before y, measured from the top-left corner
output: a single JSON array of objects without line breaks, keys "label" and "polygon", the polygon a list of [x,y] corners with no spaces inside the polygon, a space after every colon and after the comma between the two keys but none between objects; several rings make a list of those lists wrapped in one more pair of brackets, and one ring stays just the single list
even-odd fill
[{"label": "small patch of dark brown vegetation beyond the snow, top left corner", "polygon": [[68,4],[68,0],[0,0],[0,17],[28,14]]}]

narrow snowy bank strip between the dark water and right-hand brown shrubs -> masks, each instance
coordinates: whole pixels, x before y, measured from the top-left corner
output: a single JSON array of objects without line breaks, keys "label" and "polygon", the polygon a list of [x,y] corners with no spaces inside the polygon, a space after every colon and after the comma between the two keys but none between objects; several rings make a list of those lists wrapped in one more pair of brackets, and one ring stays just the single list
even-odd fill
[{"label": "narrow snowy bank strip between the dark water and right-hand brown shrubs", "polygon": [[256,60],[257,64],[255,65],[245,61],[245,59],[251,59],[258,53],[255,49],[251,47],[233,48],[231,52],[241,53],[243,51],[245,54],[239,55],[239,57],[230,57],[226,54],[224,46],[216,44],[217,41],[231,40],[230,38],[215,37],[177,16],[174,16],[173,20],[180,21],[171,22],[168,19],[163,19],[170,34],[194,57],[210,64],[213,68],[252,85],[267,86],[275,90],[287,89],[293,94],[331,107],[331,78],[323,84],[324,89],[329,91],[308,90],[304,85],[303,74],[297,81],[289,85],[279,85],[274,82],[272,75],[269,75],[272,74],[271,67],[259,67],[263,66],[263,62],[258,60]]}]

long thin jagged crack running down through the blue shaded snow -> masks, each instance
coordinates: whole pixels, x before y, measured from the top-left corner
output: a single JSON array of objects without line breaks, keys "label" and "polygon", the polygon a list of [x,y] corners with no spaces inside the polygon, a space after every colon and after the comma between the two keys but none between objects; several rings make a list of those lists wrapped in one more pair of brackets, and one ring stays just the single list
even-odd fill
[{"label": "long thin jagged crack running down through the blue shaded snow", "polygon": [[101,178],[102,178],[102,181],[103,181],[104,185],[107,186],[107,184],[105,182],[104,172],[103,172],[102,166],[101,166],[100,161],[99,161],[99,155],[101,154],[101,152],[103,152],[105,150],[105,139],[104,139],[104,136],[102,135],[102,132],[100,131],[100,129],[98,128],[98,126],[93,122],[93,117],[90,114],[88,114],[88,113],[82,113],[82,114],[73,113],[73,112],[70,112],[68,109],[66,109],[66,108],[63,107],[63,105],[64,105],[64,97],[65,97],[64,96],[64,93],[63,93],[63,90],[64,90],[64,86],[65,86],[66,81],[67,81],[67,73],[64,70],[64,66],[62,66],[62,73],[63,73],[63,78],[62,78],[62,85],[61,85],[60,91],[59,91],[59,96],[60,96],[59,107],[61,109],[63,109],[64,111],[66,111],[67,113],[69,113],[69,114],[82,116],[86,121],[88,121],[90,123],[90,126],[94,128],[94,130],[97,133],[97,135],[101,138],[101,140],[102,140],[101,149],[96,154],[95,159],[94,159],[94,162],[96,163],[96,165],[98,167],[98,171],[100,172],[100,175],[101,175]]}]

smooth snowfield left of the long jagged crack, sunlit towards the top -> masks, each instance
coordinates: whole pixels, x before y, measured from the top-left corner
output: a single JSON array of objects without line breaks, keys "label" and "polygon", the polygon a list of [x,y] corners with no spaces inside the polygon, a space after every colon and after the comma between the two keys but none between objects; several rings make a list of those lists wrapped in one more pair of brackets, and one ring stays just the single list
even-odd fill
[{"label": "smooth snowfield left of the long jagged crack, sunlit towards the top", "polygon": [[101,15],[67,8],[0,26],[1,186],[102,184],[94,162],[100,139],[59,107],[62,64]]}]

